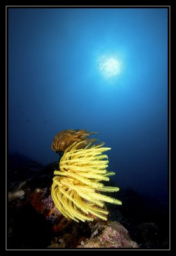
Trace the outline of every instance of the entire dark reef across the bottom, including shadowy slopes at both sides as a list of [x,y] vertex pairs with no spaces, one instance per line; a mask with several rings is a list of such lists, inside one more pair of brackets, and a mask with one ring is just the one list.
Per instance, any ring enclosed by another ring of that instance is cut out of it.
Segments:
[[106,204],[104,209],[110,212],[107,221],[94,218],[77,223],[65,218],[51,197],[55,166],[56,163],[49,164],[35,176],[31,172],[32,177],[19,180],[15,187],[14,182],[9,184],[8,188],[13,189],[10,195],[14,196],[8,202],[7,249],[169,248],[168,213],[162,210],[163,205],[159,207],[159,202],[151,204],[150,198],[150,204],[146,204],[147,198],[134,189],[121,189],[122,206]]

